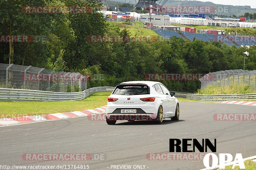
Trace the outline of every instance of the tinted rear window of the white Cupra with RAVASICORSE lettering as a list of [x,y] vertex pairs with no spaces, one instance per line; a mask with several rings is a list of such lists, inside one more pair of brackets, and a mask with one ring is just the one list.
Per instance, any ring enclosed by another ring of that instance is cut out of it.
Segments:
[[117,85],[113,94],[118,95],[139,95],[149,94],[149,87],[140,84]]

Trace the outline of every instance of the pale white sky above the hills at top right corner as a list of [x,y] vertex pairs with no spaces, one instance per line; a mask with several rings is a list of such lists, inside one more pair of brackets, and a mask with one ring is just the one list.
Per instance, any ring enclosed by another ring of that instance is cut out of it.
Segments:
[[256,0],[199,0],[202,2],[212,2],[214,4],[222,4],[222,5],[250,5],[251,8],[256,8]]

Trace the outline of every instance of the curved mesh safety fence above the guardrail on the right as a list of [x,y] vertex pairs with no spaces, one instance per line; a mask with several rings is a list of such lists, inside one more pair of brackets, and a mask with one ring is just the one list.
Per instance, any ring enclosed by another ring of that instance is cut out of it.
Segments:
[[256,70],[225,70],[217,71],[204,75],[199,79],[201,88],[207,85],[227,86],[230,84],[246,84],[256,88]]

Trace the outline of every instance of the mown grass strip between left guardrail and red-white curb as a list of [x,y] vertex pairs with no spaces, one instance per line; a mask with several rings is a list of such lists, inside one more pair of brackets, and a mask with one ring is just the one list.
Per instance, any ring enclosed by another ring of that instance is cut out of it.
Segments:
[[1,101],[0,118],[43,115],[105,106],[111,92],[97,92],[76,101]]

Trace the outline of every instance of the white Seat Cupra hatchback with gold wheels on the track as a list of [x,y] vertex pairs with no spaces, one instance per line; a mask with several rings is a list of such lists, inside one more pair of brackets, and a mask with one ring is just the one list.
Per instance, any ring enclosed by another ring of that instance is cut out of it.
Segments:
[[152,120],[162,123],[163,119],[179,120],[178,100],[162,83],[155,81],[129,81],[116,86],[108,97],[106,121]]

